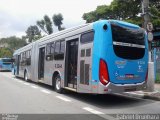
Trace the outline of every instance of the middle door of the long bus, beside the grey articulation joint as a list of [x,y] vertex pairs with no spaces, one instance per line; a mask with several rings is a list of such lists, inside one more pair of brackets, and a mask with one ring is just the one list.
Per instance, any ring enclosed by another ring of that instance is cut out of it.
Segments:
[[38,79],[44,79],[45,47],[39,49]]

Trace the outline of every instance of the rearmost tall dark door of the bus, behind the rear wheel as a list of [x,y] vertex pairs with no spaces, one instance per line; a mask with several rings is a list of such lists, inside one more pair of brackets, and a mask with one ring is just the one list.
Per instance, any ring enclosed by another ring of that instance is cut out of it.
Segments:
[[66,86],[77,88],[78,38],[66,43]]

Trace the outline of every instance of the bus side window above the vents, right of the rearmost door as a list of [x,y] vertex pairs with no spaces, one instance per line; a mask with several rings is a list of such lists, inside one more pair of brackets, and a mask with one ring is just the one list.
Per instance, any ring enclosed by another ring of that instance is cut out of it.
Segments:
[[81,35],[81,43],[89,43],[89,42],[92,42],[94,39],[94,32],[91,31],[91,32],[87,32],[87,33],[83,33]]

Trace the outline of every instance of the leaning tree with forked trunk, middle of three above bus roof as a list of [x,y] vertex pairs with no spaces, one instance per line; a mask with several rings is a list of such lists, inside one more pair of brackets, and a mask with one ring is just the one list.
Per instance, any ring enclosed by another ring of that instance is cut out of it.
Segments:
[[37,25],[47,34],[53,33],[52,28],[52,21],[48,17],[48,15],[45,15],[42,20],[37,21]]

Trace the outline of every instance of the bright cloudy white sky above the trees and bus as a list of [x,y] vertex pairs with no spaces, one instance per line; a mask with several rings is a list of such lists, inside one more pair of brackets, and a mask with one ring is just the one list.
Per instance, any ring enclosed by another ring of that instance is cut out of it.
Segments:
[[[45,14],[63,15],[65,28],[84,24],[83,13],[99,5],[109,5],[112,0],[0,0],[0,38],[25,35],[30,25],[36,25]],[[54,27],[54,31],[57,28]]]

